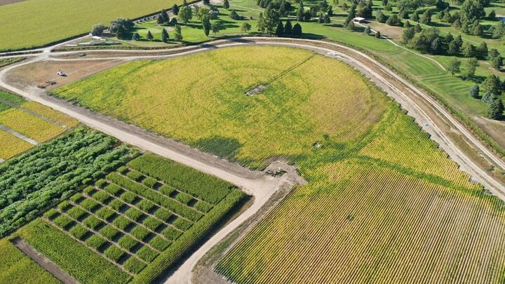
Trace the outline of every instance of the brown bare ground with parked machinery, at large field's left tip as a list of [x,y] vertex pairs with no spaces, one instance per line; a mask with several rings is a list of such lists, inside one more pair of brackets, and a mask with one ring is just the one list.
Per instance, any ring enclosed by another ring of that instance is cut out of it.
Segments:
[[[51,90],[67,83],[78,81],[87,76],[105,69],[119,65],[122,60],[90,60],[90,61],[36,61],[22,65],[6,74],[7,81],[13,86],[27,90],[27,88],[55,81],[54,85],[48,85]],[[67,76],[58,76],[62,70]]]

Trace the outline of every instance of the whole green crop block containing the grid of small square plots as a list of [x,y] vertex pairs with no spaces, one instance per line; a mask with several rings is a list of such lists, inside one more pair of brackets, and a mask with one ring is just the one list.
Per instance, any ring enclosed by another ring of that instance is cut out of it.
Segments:
[[81,283],[151,283],[244,196],[228,182],[144,154],[12,237]]

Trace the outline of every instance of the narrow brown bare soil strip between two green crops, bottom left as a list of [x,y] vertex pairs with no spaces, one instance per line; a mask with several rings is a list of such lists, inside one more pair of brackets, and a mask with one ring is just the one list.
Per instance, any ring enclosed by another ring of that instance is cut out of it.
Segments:
[[27,243],[22,238],[15,237],[11,240],[11,243],[13,243],[16,248],[24,252],[27,257],[39,264],[43,269],[46,269],[46,271],[58,278],[58,280],[62,281],[65,284],[79,284],[79,282],[69,273],[67,273],[67,271],[61,269],[60,266],[52,262],[45,255],[38,252],[34,247],[32,247],[32,245]]

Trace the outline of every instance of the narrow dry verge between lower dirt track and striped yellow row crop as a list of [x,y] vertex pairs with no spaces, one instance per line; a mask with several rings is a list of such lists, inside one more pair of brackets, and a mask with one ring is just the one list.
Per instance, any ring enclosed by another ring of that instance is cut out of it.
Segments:
[[[277,163],[277,162],[276,162]],[[269,165],[269,168],[276,168],[276,165]],[[295,170],[293,168],[282,168],[285,175],[289,175],[288,172]],[[300,182],[305,182],[304,180],[300,180]],[[220,276],[214,271],[215,265],[226,255],[226,253],[234,247],[238,241],[245,236],[253,227],[263,219],[272,209],[280,203],[285,196],[289,194],[292,189],[292,184],[283,184],[278,191],[274,195],[271,196],[269,201],[265,203],[260,210],[258,210],[255,215],[251,216],[247,219],[241,226],[238,226],[236,230],[234,230],[231,234],[229,234],[226,238],[223,238],[222,241],[217,243],[209,252],[206,253],[196,264],[192,271],[191,283],[194,284],[231,284],[229,280]]]

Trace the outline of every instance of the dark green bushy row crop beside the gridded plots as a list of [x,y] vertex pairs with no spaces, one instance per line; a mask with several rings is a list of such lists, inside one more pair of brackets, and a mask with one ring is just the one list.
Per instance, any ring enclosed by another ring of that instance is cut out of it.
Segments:
[[76,128],[0,164],[0,236],[137,153],[117,143],[94,130]]

